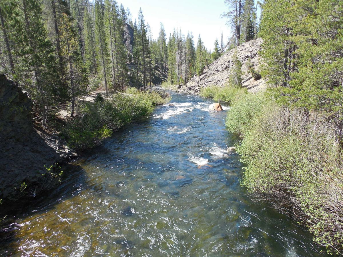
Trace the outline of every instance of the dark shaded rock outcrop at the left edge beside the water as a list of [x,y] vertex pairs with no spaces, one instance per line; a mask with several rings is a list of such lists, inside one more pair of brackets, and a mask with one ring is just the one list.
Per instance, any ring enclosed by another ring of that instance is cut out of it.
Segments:
[[15,197],[23,182],[31,190],[42,180],[44,165],[61,161],[61,154],[66,160],[68,153],[58,137],[34,126],[31,100],[0,74],[0,199]]

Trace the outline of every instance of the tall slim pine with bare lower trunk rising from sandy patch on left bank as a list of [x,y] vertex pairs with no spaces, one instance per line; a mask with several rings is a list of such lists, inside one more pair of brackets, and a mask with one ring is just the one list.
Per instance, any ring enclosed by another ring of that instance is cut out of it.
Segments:
[[99,73],[102,73],[105,83],[106,95],[108,94],[107,77],[109,70],[109,50],[105,34],[104,13],[102,2],[95,1],[95,38],[97,42],[97,56],[99,62]]

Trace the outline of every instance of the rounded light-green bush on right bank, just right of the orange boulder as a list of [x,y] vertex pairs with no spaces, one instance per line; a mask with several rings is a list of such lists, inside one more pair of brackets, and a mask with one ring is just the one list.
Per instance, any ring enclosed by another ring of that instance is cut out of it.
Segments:
[[236,96],[227,112],[225,125],[228,131],[243,137],[250,130],[253,118],[261,116],[265,104],[267,100],[262,93]]

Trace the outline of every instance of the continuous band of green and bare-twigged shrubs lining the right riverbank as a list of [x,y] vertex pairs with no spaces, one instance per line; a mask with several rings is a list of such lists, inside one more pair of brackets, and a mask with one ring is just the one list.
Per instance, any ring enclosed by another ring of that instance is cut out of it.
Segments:
[[226,127],[241,138],[237,152],[247,165],[241,184],[304,224],[316,243],[342,254],[342,150],[334,124],[245,88],[210,87],[201,95],[230,103]]

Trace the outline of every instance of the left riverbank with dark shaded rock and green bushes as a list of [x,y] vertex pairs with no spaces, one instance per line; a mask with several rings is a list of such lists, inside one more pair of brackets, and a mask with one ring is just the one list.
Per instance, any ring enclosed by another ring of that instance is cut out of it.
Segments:
[[128,89],[103,97],[87,95],[76,103],[74,117],[67,105],[45,126],[33,119],[32,100],[12,81],[0,77],[0,199],[6,205],[36,197],[56,186],[61,165],[98,145],[126,124],[148,117],[167,101],[162,91]]

